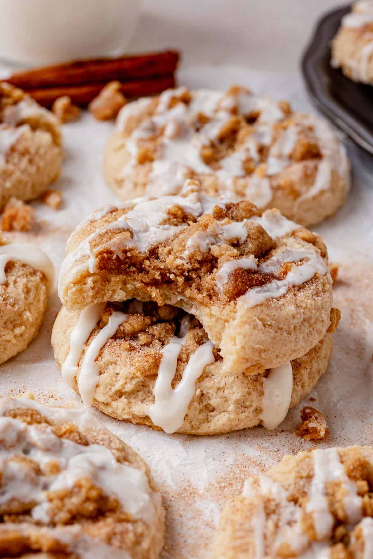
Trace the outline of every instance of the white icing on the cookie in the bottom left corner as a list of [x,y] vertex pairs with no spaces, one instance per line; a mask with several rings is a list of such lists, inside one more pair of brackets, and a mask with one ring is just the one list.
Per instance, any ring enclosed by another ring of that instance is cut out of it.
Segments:
[[[20,407],[17,404],[8,406],[5,402],[2,414],[14,406]],[[23,407],[35,407],[32,401],[23,400],[22,404]],[[45,408],[41,408],[41,413],[49,415]],[[65,417],[68,413],[64,410]],[[152,521],[154,498],[157,500],[159,496],[150,489],[147,476],[137,468],[117,462],[106,447],[98,444],[84,446],[57,437],[51,427],[39,428],[8,417],[0,418],[0,439],[1,505],[11,499],[35,501],[36,505],[31,509],[32,517],[48,523],[50,505],[45,491],[71,488],[78,479],[89,477],[106,495],[115,496],[122,510],[147,523]],[[15,454],[27,454],[40,465],[41,471],[46,463],[57,460],[60,471],[54,475],[39,476],[30,470],[26,473],[25,466],[10,461]]]

